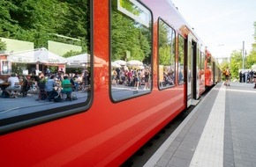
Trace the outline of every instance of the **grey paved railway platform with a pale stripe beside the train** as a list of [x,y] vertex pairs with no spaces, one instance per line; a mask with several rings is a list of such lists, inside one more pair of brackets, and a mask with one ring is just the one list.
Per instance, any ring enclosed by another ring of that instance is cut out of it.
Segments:
[[216,84],[145,167],[256,167],[254,84]]

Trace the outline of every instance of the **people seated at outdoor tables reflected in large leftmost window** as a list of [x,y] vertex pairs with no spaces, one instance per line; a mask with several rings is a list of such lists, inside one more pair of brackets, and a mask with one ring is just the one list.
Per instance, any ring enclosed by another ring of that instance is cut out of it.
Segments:
[[63,71],[56,73],[45,71],[38,75],[32,73],[27,76],[18,76],[15,73],[11,73],[11,76],[5,83],[8,86],[3,89],[4,98],[17,98],[15,93],[17,91],[23,97],[26,97],[27,91],[31,90],[39,93],[39,100],[52,101],[57,95],[63,100],[64,94],[72,100],[72,91],[87,91],[90,85],[90,73],[88,69],[84,69],[80,74],[65,74]]

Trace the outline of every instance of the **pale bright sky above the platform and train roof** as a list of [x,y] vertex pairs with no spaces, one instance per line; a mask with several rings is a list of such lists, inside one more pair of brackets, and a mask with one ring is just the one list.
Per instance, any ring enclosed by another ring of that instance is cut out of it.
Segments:
[[252,51],[256,0],[171,0],[214,57]]

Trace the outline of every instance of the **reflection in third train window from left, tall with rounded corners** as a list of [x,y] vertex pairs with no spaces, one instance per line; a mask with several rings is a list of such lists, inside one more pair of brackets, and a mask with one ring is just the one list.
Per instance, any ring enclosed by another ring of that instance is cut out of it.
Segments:
[[159,88],[164,89],[175,84],[175,31],[162,19],[158,20],[159,45]]

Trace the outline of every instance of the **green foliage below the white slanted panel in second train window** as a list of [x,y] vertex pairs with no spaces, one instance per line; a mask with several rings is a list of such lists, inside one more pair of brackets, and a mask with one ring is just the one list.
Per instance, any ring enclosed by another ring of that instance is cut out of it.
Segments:
[[111,20],[111,59],[113,61],[125,60],[126,51],[131,53],[133,60],[146,59],[151,53],[148,42],[150,40],[146,35],[148,31],[117,11],[112,12]]

